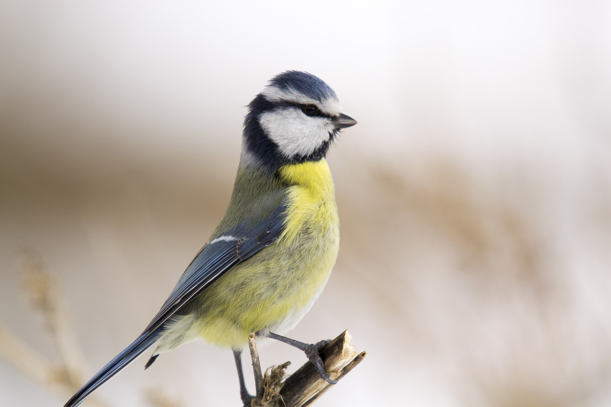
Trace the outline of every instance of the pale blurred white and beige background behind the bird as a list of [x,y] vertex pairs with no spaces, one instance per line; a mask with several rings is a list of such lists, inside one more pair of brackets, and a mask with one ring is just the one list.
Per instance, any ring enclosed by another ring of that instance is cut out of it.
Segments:
[[[130,344],[224,213],[244,105],[289,69],[359,121],[328,157],[337,265],[290,336],[348,328],[368,356],[316,406],[610,405],[610,1],[2,0],[6,328],[59,361],[28,248],[88,377]],[[229,350],[145,361],[98,398],[241,405]],[[65,401],[0,357],[1,406]]]

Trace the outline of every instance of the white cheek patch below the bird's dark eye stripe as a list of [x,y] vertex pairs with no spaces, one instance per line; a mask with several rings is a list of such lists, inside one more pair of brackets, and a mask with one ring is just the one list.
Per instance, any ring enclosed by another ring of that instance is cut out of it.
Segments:
[[333,131],[331,119],[306,117],[296,107],[262,113],[259,123],[287,158],[296,154],[309,156],[329,140],[329,132]]

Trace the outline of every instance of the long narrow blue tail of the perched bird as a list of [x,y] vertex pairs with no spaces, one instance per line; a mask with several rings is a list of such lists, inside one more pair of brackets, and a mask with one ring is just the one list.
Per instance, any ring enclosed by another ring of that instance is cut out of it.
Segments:
[[114,376],[119,370],[134,361],[142,352],[147,350],[163,333],[163,326],[153,331],[144,331],[138,339],[125,348],[119,355],[115,356],[106,366],[96,373],[81,389],[73,395],[64,407],[76,407],[95,389],[100,387],[106,380]]

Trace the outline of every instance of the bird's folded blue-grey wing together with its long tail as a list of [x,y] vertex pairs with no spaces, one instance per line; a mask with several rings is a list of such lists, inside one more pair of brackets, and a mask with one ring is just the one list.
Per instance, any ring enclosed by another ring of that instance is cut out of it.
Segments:
[[[148,324],[141,336],[104,366],[100,372],[96,373],[68,400],[64,407],[80,405],[91,392],[155,344],[155,341],[163,334],[164,322],[174,315],[178,309],[197,297],[233,266],[276,242],[284,231],[284,212],[285,206],[280,204],[276,211],[264,222],[255,226],[240,224],[202,247],[178,280],[170,297],[167,298],[161,310]],[[152,358],[147,367],[154,360]]]

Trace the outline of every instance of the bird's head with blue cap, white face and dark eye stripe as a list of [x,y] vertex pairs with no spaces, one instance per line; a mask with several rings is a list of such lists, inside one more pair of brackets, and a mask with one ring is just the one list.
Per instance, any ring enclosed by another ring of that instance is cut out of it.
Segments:
[[341,112],[335,92],[307,72],[286,71],[248,105],[242,160],[276,171],[323,158],[340,129],[356,121]]

